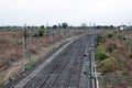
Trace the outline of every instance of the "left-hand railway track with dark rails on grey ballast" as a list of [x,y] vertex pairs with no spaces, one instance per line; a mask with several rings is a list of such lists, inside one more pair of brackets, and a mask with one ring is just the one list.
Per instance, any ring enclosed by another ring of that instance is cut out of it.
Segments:
[[[56,75],[54,75],[51,79],[47,78],[46,80],[43,80],[43,82],[37,87],[37,88],[53,88],[55,87],[54,84],[56,81],[58,81],[58,76],[61,75],[61,73],[65,69],[66,64],[68,64],[68,62],[70,61],[70,56],[73,53],[78,53],[78,46],[81,44],[81,42],[77,42],[74,47],[70,50],[70,52],[67,53],[67,55],[65,55],[64,57],[62,57],[64,61],[61,62],[62,67],[56,68],[53,72],[57,72]],[[77,47],[77,48],[76,48]],[[75,50],[76,48],[76,50]],[[76,52],[74,52],[76,51]],[[77,59],[75,61],[77,62]],[[48,76],[52,76],[53,73],[51,73]],[[47,81],[47,82],[46,82]],[[50,81],[50,82],[48,82]]]

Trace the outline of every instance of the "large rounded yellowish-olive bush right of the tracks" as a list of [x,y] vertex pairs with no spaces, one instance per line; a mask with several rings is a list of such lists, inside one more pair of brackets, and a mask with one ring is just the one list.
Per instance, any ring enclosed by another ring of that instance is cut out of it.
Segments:
[[116,58],[110,57],[110,58],[101,61],[98,64],[98,67],[99,67],[99,70],[105,74],[105,73],[114,72],[117,69],[117,65],[118,65],[118,63],[117,63]]

